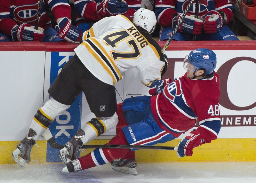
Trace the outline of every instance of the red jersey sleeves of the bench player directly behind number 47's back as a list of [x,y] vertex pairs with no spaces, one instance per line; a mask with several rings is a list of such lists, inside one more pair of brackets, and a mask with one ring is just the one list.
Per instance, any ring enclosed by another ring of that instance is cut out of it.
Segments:
[[[103,1],[103,0],[102,0]],[[99,1],[93,0],[74,0],[74,6],[76,8],[77,13],[86,21],[98,21],[103,17],[97,12],[96,6]],[[128,16],[130,19],[133,18],[133,14],[141,7],[141,0],[126,0],[126,4],[128,4],[128,11],[123,15]],[[116,14],[114,14],[116,15]],[[78,18],[79,19],[79,18]]]

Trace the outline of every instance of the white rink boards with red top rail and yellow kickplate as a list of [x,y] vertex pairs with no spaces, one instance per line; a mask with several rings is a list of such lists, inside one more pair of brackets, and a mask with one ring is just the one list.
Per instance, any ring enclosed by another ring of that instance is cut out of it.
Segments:
[[[165,42],[159,42],[164,46]],[[77,44],[0,42],[1,53],[1,126],[0,164],[14,163],[11,152],[27,133],[33,116],[49,99],[47,90],[60,72],[61,67],[73,55]],[[183,58],[196,48],[212,49],[217,55],[215,71],[220,75],[220,114],[222,128],[219,139],[197,147],[192,157],[178,158],[167,150],[139,150],[137,161],[255,161],[256,143],[256,41],[172,42],[165,54],[168,56],[168,71],[164,78],[182,76]],[[132,86],[132,87],[131,87]],[[132,94],[146,94],[148,88],[140,83],[136,69],[124,74],[116,84],[117,101]],[[82,107],[83,103],[83,107]],[[71,109],[58,117],[51,125],[51,133],[58,143],[64,144],[77,129],[90,120],[85,97],[80,96]],[[198,124],[196,124],[198,126]],[[104,139],[90,144],[104,144],[115,134],[108,131]],[[180,139],[164,146],[177,146]],[[42,137],[44,139],[44,137]],[[58,149],[52,149],[45,140],[37,142],[32,149],[33,162],[59,162]],[[88,153],[90,150],[86,150]],[[83,155],[83,154],[81,154]]]

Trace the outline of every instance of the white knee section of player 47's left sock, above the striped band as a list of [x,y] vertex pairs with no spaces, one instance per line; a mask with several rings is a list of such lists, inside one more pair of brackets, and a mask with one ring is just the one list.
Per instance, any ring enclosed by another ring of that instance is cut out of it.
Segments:
[[54,120],[58,115],[61,115],[69,107],[70,105],[62,104],[51,97],[40,109],[44,115],[47,116],[47,118],[49,117],[50,119]]

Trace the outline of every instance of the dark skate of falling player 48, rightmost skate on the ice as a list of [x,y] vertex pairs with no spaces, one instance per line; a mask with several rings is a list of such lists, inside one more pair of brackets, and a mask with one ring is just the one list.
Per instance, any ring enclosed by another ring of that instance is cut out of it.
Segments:
[[135,159],[116,159],[111,162],[112,169],[132,175],[137,175],[136,171],[136,160]]

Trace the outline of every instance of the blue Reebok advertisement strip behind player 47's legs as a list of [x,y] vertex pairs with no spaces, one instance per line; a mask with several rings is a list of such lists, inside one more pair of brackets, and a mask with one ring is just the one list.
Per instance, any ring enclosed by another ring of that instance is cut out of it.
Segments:
[[[61,71],[61,68],[74,55],[74,52],[51,52],[50,85]],[[82,93],[78,95],[72,105],[52,122],[49,129],[58,144],[64,145],[76,135],[81,128]],[[47,143],[46,162],[61,162],[59,150]]]

